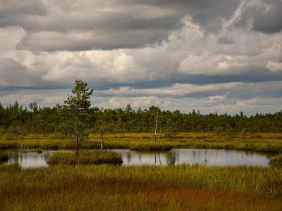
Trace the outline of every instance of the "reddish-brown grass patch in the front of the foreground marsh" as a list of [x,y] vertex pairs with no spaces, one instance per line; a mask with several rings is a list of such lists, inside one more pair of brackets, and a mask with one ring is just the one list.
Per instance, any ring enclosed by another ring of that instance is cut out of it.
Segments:
[[[240,191],[147,186],[130,181],[66,182],[49,188],[6,184],[1,210],[281,210],[278,199]],[[5,198],[5,200],[4,200]],[[16,203],[14,203],[16,202]]]

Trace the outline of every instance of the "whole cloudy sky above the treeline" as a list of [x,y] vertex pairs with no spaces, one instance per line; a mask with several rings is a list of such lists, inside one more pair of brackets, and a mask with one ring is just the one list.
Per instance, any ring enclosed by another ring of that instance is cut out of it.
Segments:
[[0,0],[0,103],[282,110],[282,0]]

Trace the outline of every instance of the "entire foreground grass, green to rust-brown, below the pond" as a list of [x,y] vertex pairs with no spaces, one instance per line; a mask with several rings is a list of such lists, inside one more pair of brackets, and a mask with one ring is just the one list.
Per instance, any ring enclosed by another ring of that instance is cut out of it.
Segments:
[[282,210],[278,168],[0,165],[0,210]]

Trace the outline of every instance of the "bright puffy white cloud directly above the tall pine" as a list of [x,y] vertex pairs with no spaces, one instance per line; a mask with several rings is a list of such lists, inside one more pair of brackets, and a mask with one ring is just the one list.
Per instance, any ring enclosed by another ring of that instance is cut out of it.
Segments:
[[145,68],[126,53],[88,51],[67,54],[60,63],[54,63],[42,79],[73,82],[80,78],[87,82],[133,83],[147,78]]

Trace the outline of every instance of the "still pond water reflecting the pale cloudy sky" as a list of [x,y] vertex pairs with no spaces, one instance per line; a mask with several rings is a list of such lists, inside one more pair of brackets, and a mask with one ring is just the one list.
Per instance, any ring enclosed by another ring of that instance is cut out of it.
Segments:
[[[226,151],[226,150],[204,150],[204,149],[171,149],[170,151],[130,151],[111,150],[120,153],[123,165],[177,165],[181,163],[204,165],[259,165],[269,166],[269,160],[274,154],[255,153],[249,151]],[[6,163],[18,162],[20,166],[47,167],[50,155],[58,151],[21,152],[8,151],[9,160]]]

